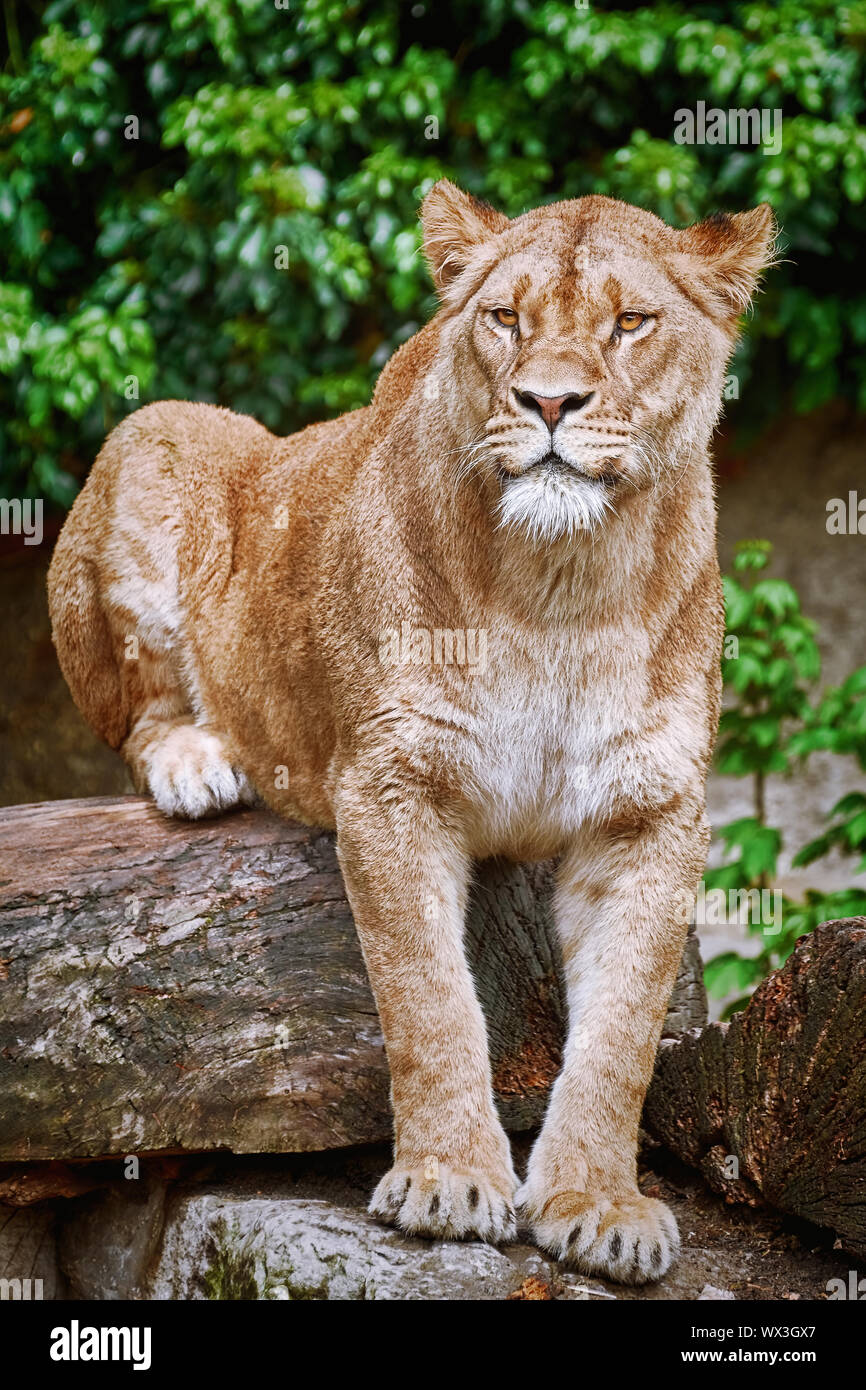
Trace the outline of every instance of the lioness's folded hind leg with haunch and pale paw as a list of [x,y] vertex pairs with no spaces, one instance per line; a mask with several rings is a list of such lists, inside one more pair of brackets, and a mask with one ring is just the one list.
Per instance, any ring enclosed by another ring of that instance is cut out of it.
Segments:
[[53,635],[72,696],[168,816],[256,799],[200,696],[179,570],[185,498],[210,456],[229,443],[261,452],[268,439],[211,406],[143,406],[106,439],[51,560]]

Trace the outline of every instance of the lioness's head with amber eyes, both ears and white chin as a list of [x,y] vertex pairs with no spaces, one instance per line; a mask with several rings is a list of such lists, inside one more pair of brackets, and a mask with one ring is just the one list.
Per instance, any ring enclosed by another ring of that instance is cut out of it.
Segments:
[[555,539],[673,485],[717,417],[769,208],[677,232],[588,197],[512,222],[439,183],[423,215],[452,455],[499,518]]

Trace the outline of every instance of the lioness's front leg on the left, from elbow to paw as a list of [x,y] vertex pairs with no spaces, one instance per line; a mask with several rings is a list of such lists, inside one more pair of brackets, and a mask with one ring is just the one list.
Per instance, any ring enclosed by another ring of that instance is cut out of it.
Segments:
[[336,805],[391,1069],[393,1166],[370,1211],[413,1234],[507,1240],[517,1183],[463,949],[467,856],[399,776],[346,774]]

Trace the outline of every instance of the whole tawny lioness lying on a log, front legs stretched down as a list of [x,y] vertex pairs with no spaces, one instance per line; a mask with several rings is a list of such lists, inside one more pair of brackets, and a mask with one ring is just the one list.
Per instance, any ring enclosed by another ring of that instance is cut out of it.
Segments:
[[[708,847],[708,446],[773,217],[509,220],[443,179],[421,220],[441,309],[370,406],[289,439],[185,402],[113,431],[54,641],[167,815],[259,794],[336,828],[392,1077],[371,1212],[503,1241],[517,1202],[559,1259],[639,1283],[678,1244],[637,1138]],[[517,1191],[461,942],[488,855],[559,858],[570,1033]]]

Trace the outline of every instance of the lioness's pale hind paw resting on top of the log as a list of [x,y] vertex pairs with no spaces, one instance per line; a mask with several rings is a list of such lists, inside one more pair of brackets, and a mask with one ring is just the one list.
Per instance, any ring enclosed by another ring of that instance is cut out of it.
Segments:
[[222,739],[195,724],[172,728],[147,752],[147,785],[167,816],[199,820],[252,806],[256,792],[228,760]]

